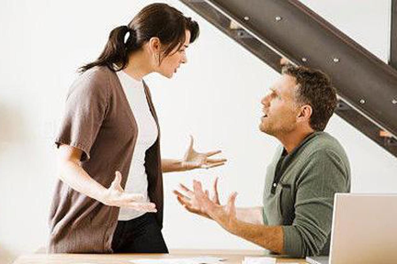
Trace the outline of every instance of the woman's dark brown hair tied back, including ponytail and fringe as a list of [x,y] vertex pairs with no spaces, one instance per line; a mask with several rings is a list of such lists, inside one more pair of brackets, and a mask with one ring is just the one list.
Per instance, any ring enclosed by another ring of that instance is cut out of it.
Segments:
[[[143,8],[128,24],[116,27],[110,32],[108,43],[98,59],[79,68],[84,72],[95,66],[107,66],[112,71],[124,69],[131,52],[139,50],[152,37],[159,38],[165,46],[164,57],[175,47],[185,42],[185,31],[191,33],[190,43],[198,36],[199,28],[196,21],[185,17],[181,11],[167,4],[150,4]],[[127,40],[125,36],[129,33]],[[161,63],[161,56],[159,63]],[[116,67],[115,67],[116,66]]]

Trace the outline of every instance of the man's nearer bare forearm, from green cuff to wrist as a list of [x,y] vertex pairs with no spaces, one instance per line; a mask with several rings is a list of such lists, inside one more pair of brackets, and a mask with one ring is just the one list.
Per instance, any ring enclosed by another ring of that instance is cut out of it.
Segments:
[[283,253],[284,233],[281,226],[266,226],[235,220],[227,230],[260,247],[275,253]]

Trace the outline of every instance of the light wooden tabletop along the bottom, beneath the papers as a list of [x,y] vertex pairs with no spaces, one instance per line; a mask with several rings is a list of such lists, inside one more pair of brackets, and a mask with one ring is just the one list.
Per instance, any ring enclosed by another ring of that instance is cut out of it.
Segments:
[[[130,260],[141,258],[190,258],[195,256],[217,256],[227,258],[224,264],[241,264],[245,256],[269,256],[263,251],[241,250],[192,250],[175,249],[170,254],[28,254],[19,256],[13,264],[132,264]],[[295,262],[306,264],[304,259],[278,256],[277,263]]]

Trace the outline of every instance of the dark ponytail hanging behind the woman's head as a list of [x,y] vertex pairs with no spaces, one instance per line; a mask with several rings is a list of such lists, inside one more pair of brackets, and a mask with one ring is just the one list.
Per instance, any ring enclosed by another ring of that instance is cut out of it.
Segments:
[[[129,36],[124,42],[127,33]],[[82,66],[79,71],[85,72],[95,66],[107,66],[112,71],[124,69],[130,52],[135,48],[135,40],[136,34],[133,29],[127,26],[116,27],[110,32],[108,42],[98,59]]]

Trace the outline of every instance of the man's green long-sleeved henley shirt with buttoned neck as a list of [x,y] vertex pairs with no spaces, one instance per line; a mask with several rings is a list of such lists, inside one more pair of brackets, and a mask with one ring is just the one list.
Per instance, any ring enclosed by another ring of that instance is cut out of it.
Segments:
[[266,172],[263,218],[283,227],[286,254],[329,254],[333,197],[350,192],[350,182],[346,153],[326,132],[310,134],[289,154],[278,148]]

